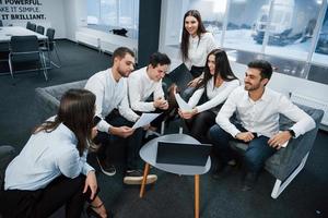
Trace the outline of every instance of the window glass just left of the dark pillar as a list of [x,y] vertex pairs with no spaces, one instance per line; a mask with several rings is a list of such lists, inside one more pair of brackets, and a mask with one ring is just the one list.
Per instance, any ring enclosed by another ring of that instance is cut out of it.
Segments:
[[87,0],[87,26],[138,38],[139,0]]

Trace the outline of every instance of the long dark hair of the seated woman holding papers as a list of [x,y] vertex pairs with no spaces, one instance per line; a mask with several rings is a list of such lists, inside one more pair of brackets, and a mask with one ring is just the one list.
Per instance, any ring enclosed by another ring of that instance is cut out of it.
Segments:
[[233,81],[238,80],[233,71],[231,70],[229,59],[226,56],[226,52],[222,49],[213,49],[211,52],[209,52],[207,57],[207,61],[209,60],[209,57],[213,55],[215,57],[215,72],[214,75],[211,75],[210,69],[208,63],[204,65],[203,70],[203,80],[198,84],[198,87],[203,87],[208,84],[208,82],[211,80],[212,76],[214,76],[214,84],[216,81],[218,75],[222,77],[223,81]]

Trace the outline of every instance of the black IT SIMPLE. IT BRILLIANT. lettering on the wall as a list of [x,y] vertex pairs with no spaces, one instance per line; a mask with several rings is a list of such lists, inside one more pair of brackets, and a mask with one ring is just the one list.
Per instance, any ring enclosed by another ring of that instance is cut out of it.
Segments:
[[0,20],[5,23],[45,21],[40,0],[0,0]]

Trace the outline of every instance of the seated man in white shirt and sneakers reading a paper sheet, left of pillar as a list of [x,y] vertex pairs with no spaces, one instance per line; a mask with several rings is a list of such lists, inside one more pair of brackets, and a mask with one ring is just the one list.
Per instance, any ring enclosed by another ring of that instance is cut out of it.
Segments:
[[[127,81],[134,69],[134,53],[126,47],[117,48],[113,53],[113,66],[101,71],[89,78],[85,88],[96,96],[95,114],[98,134],[94,143],[98,145],[113,144],[121,141],[126,146],[126,184],[140,184],[142,171],[138,170],[139,149],[142,142],[142,129],[133,130],[133,122],[139,119],[130,108],[127,99]],[[97,160],[102,171],[114,175],[116,169],[110,165],[107,146],[101,146]],[[149,175],[148,183],[156,181],[156,175]]]

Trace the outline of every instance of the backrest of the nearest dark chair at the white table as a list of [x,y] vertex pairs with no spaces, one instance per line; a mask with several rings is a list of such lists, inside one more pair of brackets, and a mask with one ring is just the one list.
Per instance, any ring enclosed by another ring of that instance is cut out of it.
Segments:
[[12,61],[39,60],[38,40],[36,36],[12,36],[10,39],[10,53]]

